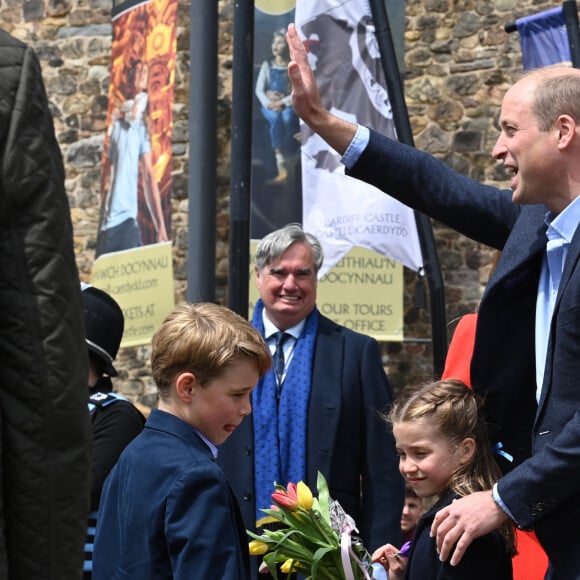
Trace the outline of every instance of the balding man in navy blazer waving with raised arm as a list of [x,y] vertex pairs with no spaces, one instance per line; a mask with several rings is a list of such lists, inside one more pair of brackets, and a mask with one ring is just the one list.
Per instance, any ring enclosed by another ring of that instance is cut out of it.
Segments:
[[332,115],[293,25],[288,41],[294,109],[341,155],[349,149],[349,175],[501,250],[479,307],[470,374],[504,475],[437,514],[441,558],[459,564],[476,538],[511,519],[535,531],[546,578],[579,577],[580,71],[537,69],[506,92],[492,151],[511,174],[510,189],[500,190]]

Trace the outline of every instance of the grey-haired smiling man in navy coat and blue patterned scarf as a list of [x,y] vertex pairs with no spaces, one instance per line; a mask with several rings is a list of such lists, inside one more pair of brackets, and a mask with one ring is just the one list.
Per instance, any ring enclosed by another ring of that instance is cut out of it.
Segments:
[[[377,341],[318,311],[322,263],[319,240],[300,224],[271,232],[258,244],[260,299],[252,324],[275,364],[252,395],[251,418],[218,461],[247,529],[270,525],[261,509],[270,507],[274,482],[304,481],[314,489],[320,471],[330,495],[374,549],[401,539],[404,484],[392,434],[380,417],[391,389]],[[276,348],[278,339],[283,341]],[[255,572],[256,558],[252,565]]]

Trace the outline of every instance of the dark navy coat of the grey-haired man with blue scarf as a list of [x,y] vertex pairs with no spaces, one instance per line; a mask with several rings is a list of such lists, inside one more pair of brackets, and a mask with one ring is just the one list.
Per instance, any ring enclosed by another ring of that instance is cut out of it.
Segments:
[[[377,341],[319,315],[305,483],[315,492],[318,471],[324,474],[331,497],[354,518],[368,550],[401,540],[404,483],[392,433],[380,417],[390,403]],[[248,529],[256,522],[253,435],[250,415],[218,454]]]

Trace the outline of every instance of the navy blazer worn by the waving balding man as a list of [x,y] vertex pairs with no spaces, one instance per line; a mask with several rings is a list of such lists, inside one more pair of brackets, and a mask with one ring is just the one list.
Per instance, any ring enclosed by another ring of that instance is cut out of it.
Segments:
[[518,206],[412,147],[371,131],[348,172],[469,238],[502,250],[482,297],[471,362],[493,443],[515,456],[498,489],[533,528],[553,579],[580,578],[580,231],[568,250],[536,404],[535,309],[547,209]]

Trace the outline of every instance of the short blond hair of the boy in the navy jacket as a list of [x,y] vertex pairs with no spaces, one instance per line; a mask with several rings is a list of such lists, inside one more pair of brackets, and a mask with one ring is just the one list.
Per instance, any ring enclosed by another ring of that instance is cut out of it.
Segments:
[[210,302],[177,306],[153,336],[151,372],[164,400],[176,375],[193,373],[205,385],[241,361],[253,362],[261,377],[272,358],[247,320]]

